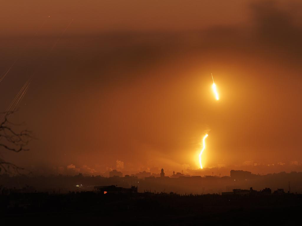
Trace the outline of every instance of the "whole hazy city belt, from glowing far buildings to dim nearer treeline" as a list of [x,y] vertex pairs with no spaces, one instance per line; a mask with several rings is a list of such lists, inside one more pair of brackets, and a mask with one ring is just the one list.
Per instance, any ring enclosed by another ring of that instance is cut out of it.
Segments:
[[188,164],[183,164],[179,171],[159,167],[127,170],[124,165],[126,164],[123,161],[117,160],[111,167],[98,164],[93,168],[87,165],[77,167],[70,164],[42,170],[32,166],[32,171],[27,175],[7,175],[4,184],[7,189],[20,190],[29,186],[31,190],[54,193],[59,190],[61,193],[92,191],[95,186],[110,185],[124,188],[136,186],[138,192],[148,190],[153,193],[157,191],[221,195],[233,189],[245,190],[250,187],[256,190],[268,187],[273,191],[283,189],[285,192],[302,193],[302,165],[297,161],[288,164],[245,161],[241,166],[220,163],[217,167],[202,170],[191,169]]

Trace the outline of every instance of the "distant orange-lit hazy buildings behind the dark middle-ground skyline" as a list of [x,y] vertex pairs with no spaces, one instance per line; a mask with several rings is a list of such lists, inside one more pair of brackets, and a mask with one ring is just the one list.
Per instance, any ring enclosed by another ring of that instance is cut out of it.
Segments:
[[[77,175],[81,173],[83,176],[103,176],[112,177],[112,171],[115,170],[115,176],[122,177],[123,175],[131,175],[137,177],[160,177],[160,170],[162,167],[141,167],[135,168],[131,163],[125,163],[121,160],[116,160],[112,165],[108,164],[95,164],[95,165],[67,165],[67,166],[49,166],[49,167],[36,167],[31,165],[30,173],[34,175]],[[230,176],[230,170],[245,170],[251,171],[253,174],[271,174],[278,172],[302,171],[302,165],[299,161],[289,162],[275,162],[263,163],[253,162],[251,160],[244,161],[240,165],[228,165],[227,163],[220,162],[216,166],[206,167],[202,170],[197,167],[191,167],[189,164],[182,164],[178,168],[165,168],[165,174],[169,177],[175,177],[178,174],[182,176]],[[110,173],[111,172],[111,173]],[[142,173],[145,174],[142,174]],[[174,172],[174,176],[173,176]],[[111,176],[110,176],[111,175]],[[141,176],[140,176],[141,175]],[[141,179],[140,178],[140,179]]]

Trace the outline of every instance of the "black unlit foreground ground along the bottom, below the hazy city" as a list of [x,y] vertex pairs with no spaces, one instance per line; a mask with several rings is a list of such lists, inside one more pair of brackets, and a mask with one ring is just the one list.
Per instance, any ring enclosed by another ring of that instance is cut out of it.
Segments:
[[[2,222],[84,225],[301,225],[302,195],[178,196],[47,194],[0,196]],[[5,225],[5,224],[3,224]]]

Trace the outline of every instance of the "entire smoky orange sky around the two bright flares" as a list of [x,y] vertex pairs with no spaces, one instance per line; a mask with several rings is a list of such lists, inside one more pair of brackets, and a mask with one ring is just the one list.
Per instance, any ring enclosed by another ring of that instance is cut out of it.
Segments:
[[38,71],[14,120],[26,121],[39,139],[30,152],[8,158],[20,164],[121,159],[137,167],[195,166],[208,132],[205,167],[301,161],[300,6],[3,2],[0,70],[29,43],[0,83],[3,110]]

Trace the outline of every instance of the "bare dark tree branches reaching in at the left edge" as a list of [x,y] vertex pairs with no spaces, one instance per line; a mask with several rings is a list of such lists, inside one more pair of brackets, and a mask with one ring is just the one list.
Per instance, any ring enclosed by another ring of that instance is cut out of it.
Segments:
[[[29,141],[33,139],[33,134],[29,130],[18,131],[17,128],[18,126],[21,126],[21,124],[14,124],[8,121],[8,118],[13,113],[14,111],[2,113],[4,116],[1,117],[0,123],[0,151],[28,151],[29,149],[27,149],[26,146]],[[2,155],[0,155],[0,172],[4,171],[5,173],[11,173],[11,171],[15,171],[19,173],[19,170],[21,169],[23,168],[5,161]]]

